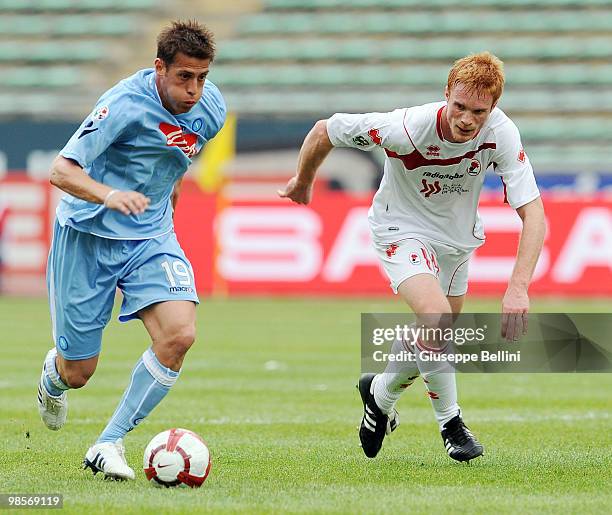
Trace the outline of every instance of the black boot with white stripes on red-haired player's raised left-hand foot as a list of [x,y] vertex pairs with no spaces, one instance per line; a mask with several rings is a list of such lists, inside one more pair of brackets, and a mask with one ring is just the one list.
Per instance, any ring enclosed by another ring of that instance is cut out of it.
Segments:
[[385,435],[391,434],[399,426],[399,414],[394,409],[391,415],[384,414],[376,405],[372,392],[372,381],[376,374],[362,374],[357,389],[363,401],[363,418],[359,426],[361,448],[368,458],[374,458]]

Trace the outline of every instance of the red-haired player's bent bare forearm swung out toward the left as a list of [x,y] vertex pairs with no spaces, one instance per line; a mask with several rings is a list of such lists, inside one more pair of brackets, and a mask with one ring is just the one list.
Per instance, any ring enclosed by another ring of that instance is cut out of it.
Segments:
[[315,175],[332,148],[334,146],[327,134],[327,120],[319,120],[302,143],[296,175],[289,179],[284,190],[278,190],[278,195],[298,204],[310,203]]

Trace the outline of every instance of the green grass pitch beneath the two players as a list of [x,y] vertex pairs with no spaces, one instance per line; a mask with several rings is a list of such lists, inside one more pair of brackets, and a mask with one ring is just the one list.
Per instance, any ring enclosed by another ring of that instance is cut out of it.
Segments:
[[[498,301],[466,310],[497,310]],[[610,301],[534,302],[537,311],[604,311]],[[98,371],[48,431],[36,385],[49,348],[44,300],[0,299],[0,493],[62,493],[64,513],[610,513],[612,375],[459,375],[466,423],[485,446],[447,457],[421,381],[378,458],[359,448],[361,312],[396,299],[204,300],[198,341],[176,386],[126,438],[137,480],[103,481],[80,464],[147,346],[138,322],[112,322]],[[213,456],[199,490],[157,489],[142,473],[149,439],[201,434]]]

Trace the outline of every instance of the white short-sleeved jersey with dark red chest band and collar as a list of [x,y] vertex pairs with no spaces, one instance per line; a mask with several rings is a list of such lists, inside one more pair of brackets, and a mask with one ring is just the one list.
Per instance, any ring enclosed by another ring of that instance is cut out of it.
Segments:
[[514,209],[540,195],[510,118],[495,108],[472,140],[451,143],[442,136],[445,106],[436,102],[389,113],[337,113],[327,121],[334,146],[380,146],[387,154],[368,216],[376,242],[422,236],[464,251],[482,245],[478,199],[490,165]]

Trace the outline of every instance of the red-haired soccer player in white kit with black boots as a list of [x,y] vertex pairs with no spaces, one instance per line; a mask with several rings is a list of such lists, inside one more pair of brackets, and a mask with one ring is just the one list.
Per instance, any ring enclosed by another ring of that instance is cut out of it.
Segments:
[[[502,62],[483,52],[456,61],[444,102],[389,113],[337,113],[318,121],[300,150],[297,174],[279,195],[308,204],[315,174],[333,147],[386,153],[384,176],[369,211],[376,252],[391,282],[427,326],[442,327],[458,314],[467,292],[468,265],[484,243],[478,199],[485,170],[504,184],[505,201],[522,220],[516,262],[502,301],[502,335],[526,330],[527,290],[540,254],[545,218],[533,169],[515,124],[496,107],[504,86]],[[395,404],[421,375],[449,456],[469,461],[483,453],[465,426],[454,372],[422,352],[444,351],[443,342],[396,341],[392,352],[415,353],[415,362],[390,363],[381,374],[363,374],[364,414],[359,437],[373,458],[398,423]]]

